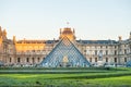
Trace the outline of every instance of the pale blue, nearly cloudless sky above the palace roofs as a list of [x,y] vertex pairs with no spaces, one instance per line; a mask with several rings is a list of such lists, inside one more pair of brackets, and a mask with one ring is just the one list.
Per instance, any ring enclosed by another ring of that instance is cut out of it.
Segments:
[[11,39],[58,39],[67,26],[78,39],[128,39],[131,0],[0,0],[0,26]]

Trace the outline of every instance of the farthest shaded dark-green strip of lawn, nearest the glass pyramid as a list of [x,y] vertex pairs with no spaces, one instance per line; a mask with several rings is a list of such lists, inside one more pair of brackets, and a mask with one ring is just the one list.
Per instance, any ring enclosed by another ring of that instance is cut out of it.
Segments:
[[119,71],[129,71],[128,69],[117,67],[58,67],[58,69],[26,69],[26,67],[13,67],[13,69],[0,69],[0,74],[82,74],[82,73],[114,73]]

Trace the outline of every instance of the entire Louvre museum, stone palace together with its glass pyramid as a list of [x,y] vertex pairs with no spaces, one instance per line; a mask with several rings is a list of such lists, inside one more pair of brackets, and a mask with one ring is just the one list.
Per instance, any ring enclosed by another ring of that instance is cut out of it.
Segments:
[[76,40],[75,30],[60,28],[57,40],[8,39],[0,27],[0,64],[8,66],[126,65],[131,61],[131,33],[126,40]]

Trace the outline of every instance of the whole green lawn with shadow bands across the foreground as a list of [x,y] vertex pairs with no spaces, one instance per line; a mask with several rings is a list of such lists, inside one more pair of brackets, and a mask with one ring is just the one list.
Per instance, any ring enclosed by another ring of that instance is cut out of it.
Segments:
[[26,72],[25,69],[0,70],[0,86],[131,87],[131,69],[31,69],[29,74]]

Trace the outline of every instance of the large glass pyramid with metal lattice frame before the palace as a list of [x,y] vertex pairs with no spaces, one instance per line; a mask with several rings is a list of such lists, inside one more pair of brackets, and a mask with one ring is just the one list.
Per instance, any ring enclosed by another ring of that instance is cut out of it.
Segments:
[[[64,62],[63,58],[66,58],[68,62]],[[69,38],[63,37],[41,61],[40,65],[45,67],[88,67],[91,64]]]

